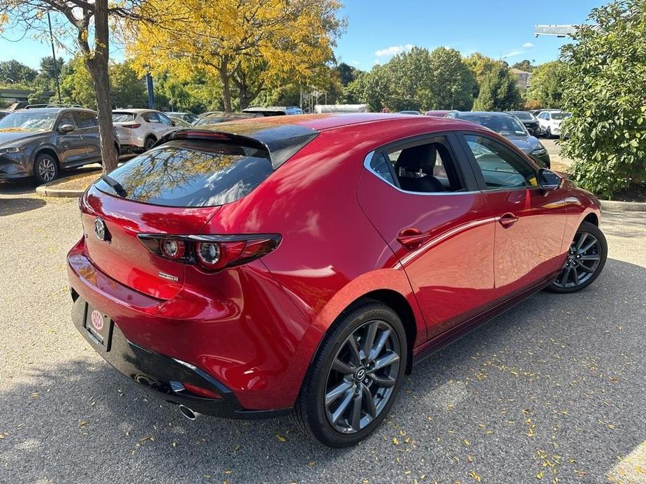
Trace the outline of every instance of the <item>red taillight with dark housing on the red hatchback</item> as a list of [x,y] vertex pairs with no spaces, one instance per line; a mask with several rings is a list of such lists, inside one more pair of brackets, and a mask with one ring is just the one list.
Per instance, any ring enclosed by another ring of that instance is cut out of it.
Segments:
[[198,264],[207,271],[247,264],[278,247],[278,234],[158,235],[139,234],[151,252],[164,259]]

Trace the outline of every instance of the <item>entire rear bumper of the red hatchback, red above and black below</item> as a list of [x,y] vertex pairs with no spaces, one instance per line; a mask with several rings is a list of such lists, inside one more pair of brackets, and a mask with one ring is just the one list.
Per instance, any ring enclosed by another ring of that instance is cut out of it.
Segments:
[[[147,375],[166,400],[182,403],[186,397],[182,392],[168,393],[170,381],[177,377],[172,362],[179,361],[220,388],[214,391],[228,395],[224,402],[184,402],[194,411],[234,418],[282,414],[293,407],[324,333],[304,320],[271,275],[261,271],[262,264],[253,264],[212,275],[208,287],[184,287],[163,300],[103,273],[85,255],[81,239],[68,254],[70,287],[79,299],[112,319],[122,351],[110,354],[110,348],[102,353],[103,347],[85,334],[82,315],[75,315],[74,324],[117,370],[131,379]],[[142,363],[149,360],[163,372]],[[198,407],[201,404],[208,408]]]

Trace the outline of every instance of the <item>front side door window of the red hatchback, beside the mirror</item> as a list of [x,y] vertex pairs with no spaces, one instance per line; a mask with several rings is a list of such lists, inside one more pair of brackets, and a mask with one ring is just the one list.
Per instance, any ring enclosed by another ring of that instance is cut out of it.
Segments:
[[493,139],[464,135],[487,190],[536,186],[536,173],[522,158]]

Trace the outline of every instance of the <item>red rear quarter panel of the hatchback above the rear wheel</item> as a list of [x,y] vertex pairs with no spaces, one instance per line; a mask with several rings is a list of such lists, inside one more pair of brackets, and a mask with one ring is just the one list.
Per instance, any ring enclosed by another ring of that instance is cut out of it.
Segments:
[[382,144],[381,129],[323,130],[251,194],[223,206],[204,232],[281,234],[279,248],[260,260],[321,331],[368,292],[402,294],[420,344],[426,330],[411,285],[357,201],[363,158]]

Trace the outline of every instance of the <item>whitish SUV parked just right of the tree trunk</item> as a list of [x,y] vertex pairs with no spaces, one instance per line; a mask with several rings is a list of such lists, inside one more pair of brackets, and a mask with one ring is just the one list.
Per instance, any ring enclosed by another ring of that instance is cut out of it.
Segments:
[[166,114],[154,109],[115,109],[112,124],[122,154],[148,151],[157,139],[177,129]]

